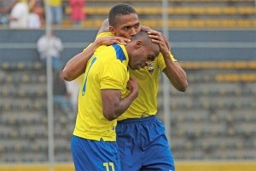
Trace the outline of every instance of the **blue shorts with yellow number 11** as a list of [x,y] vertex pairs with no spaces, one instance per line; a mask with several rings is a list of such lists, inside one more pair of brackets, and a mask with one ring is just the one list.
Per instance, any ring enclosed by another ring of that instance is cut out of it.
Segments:
[[71,151],[76,171],[120,171],[116,142],[86,140],[72,137]]

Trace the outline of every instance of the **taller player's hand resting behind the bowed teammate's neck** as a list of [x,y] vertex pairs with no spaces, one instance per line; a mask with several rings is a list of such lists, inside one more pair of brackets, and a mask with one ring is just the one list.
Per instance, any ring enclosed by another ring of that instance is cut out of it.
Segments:
[[96,39],[96,44],[101,45],[112,45],[112,44],[126,44],[131,40],[125,37],[116,37],[116,36],[108,36],[108,37],[99,37]]

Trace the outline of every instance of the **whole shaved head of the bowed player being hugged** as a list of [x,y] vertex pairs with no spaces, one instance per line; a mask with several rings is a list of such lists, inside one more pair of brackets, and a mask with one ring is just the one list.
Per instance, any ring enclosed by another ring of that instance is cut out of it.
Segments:
[[128,65],[131,70],[149,66],[150,62],[154,61],[160,53],[159,45],[151,41],[146,31],[140,31],[131,37],[131,42],[127,43],[125,48],[129,56]]

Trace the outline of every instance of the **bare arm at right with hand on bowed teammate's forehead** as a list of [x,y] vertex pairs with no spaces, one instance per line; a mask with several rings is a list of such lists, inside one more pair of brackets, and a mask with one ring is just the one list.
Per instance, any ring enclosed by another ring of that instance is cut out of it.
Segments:
[[152,38],[152,41],[158,43],[160,46],[160,53],[163,55],[166,63],[166,68],[164,69],[166,77],[168,77],[172,85],[178,91],[184,92],[188,87],[187,75],[177,62],[172,61],[169,52],[169,44],[167,43],[166,38],[158,31],[150,30],[148,31],[148,34],[149,37]]

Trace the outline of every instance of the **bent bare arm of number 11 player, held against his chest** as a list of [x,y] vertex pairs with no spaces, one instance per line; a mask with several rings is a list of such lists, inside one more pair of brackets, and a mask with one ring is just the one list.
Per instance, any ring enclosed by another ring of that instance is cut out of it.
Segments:
[[102,111],[108,121],[112,121],[122,115],[131,105],[132,101],[137,98],[138,84],[135,79],[130,78],[128,88],[131,92],[123,99],[121,99],[119,90],[102,90]]

